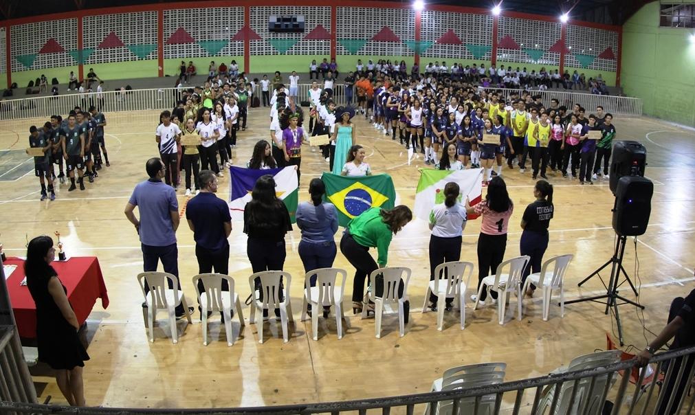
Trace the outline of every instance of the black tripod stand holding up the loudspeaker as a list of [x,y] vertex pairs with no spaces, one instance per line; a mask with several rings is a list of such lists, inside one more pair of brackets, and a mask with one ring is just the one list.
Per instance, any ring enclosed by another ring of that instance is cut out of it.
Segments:
[[[623,268],[623,254],[625,253],[627,238],[627,236],[618,236],[618,240],[615,243],[613,257],[611,257],[611,259],[604,263],[603,266],[598,268],[598,270],[591,272],[591,275],[589,275],[589,277],[582,279],[582,281],[579,284],[577,284],[578,286],[582,286],[584,282],[589,281],[589,279],[594,277],[594,275],[598,275],[600,279],[599,272],[607,268],[607,266],[611,266],[610,279],[608,280],[608,285],[606,285],[605,282],[603,282],[603,279],[601,279],[601,283],[606,288],[606,293],[603,295],[595,295],[594,297],[579,298],[578,300],[571,300],[565,302],[565,304],[573,304],[575,302],[594,301],[599,302],[600,304],[605,304],[605,314],[608,314],[608,311],[612,310],[615,315],[616,325],[618,326],[618,337],[620,340],[620,345],[623,345],[623,327],[620,323],[618,306],[623,304],[632,304],[635,307],[644,309],[643,305],[632,300],[628,300],[627,298],[624,298],[618,294],[618,288],[625,282],[628,282],[628,284],[630,284],[630,288],[632,288],[632,291],[635,293],[635,295],[638,295],[637,289],[635,289],[635,286],[632,284],[632,281],[630,281],[630,277],[628,277],[628,273],[626,272],[625,268]],[[623,282],[619,282],[621,275],[625,277],[625,280]],[[622,302],[618,302],[619,300]]]

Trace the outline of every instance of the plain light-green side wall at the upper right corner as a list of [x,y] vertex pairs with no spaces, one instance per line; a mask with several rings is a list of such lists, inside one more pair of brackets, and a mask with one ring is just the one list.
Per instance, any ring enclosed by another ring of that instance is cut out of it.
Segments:
[[659,27],[659,2],[623,25],[621,86],[642,99],[644,113],[695,126],[695,43],[692,30]]

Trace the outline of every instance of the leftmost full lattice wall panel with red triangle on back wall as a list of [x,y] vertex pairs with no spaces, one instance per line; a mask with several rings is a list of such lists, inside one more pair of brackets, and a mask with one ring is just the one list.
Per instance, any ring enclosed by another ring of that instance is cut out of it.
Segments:
[[[12,39],[10,44],[12,72],[77,64],[68,53],[77,49],[77,19],[18,24],[10,27],[10,38]],[[50,40],[54,40],[58,46],[53,46],[55,43],[49,42]],[[40,53],[47,42],[49,42],[49,49],[63,49],[63,51]],[[24,60],[24,63],[20,59]],[[31,65],[25,65],[25,63],[31,63]]]

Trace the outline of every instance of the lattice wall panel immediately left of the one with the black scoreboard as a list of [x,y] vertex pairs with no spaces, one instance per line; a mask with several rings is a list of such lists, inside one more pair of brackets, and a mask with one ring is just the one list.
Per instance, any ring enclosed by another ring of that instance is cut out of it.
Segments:
[[[244,54],[244,42],[231,41],[244,26],[243,7],[164,10],[163,19],[165,59]],[[190,39],[186,40],[186,34]],[[167,44],[172,35],[177,40]],[[227,44],[224,40],[228,41]],[[218,47],[221,47],[219,51]]]

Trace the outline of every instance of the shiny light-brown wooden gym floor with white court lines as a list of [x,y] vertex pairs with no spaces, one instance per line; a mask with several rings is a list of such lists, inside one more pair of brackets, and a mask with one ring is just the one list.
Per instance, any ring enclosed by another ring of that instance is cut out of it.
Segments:
[[[234,162],[245,165],[256,140],[268,137],[267,109],[251,112],[249,129],[239,133]],[[220,332],[218,318],[211,323],[212,343],[202,345],[202,326],[195,315],[193,325],[178,325],[181,340],[173,345],[169,324],[160,320],[156,341],[149,343],[143,327],[142,302],[136,275],[142,271],[140,243],[133,227],[123,215],[123,208],[133,186],[146,178],[145,160],[156,156],[154,129],[158,111],[107,113],[106,143],[111,167],[104,168],[95,184],[87,190],[68,194],[67,184],[58,187],[55,202],[40,202],[38,179],[33,177],[31,161],[22,152],[27,147],[28,127],[40,126],[45,120],[19,120],[0,123],[0,149],[18,150],[0,154],[0,241],[10,256],[25,254],[27,238],[40,234],[63,235],[67,252],[73,256],[97,256],[104,271],[111,306],[104,310],[97,302],[88,320],[88,352],[91,360],[84,372],[88,405],[107,407],[239,407],[278,405],[393,396],[429,390],[432,380],[451,366],[484,361],[506,361],[507,380],[544,375],[567,364],[575,356],[605,349],[606,334],[616,336],[616,326],[603,306],[580,303],[566,307],[564,318],[559,307],[550,309],[550,320],[541,319],[539,295],[525,301],[521,321],[497,324],[496,311],[486,307],[466,313],[466,329],[457,325],[458,313],[445,316],[445,329],[436,330],[436,314],[420,314],[429,279],[427,244],[430,233],[425,222],[414,220],[395,236],[391,244],[389,265],[412,268],[409,286],[411,323],[406,334],[398,336],[395,316],[384,318],[382,339],[375,339],[373,318],[361,320],[350,313],[352,328],[342,340],[336,339],[335,320],[320,321],[319,341],[313,341],[311,323],[300,322],[303,268],[297,254],[300,233],[295,230],[286,238],[288,258],[285,270],[293,275],[291,297],[295,325],[289,343],[282,343],[275,322],[266,323],[266,341],[258,343],[254,325],[246,325],[241,338],[231,348]],[[667,318],[671,299],[687,295],[694,288],[693,262],[695,247],[695,133],[665,122],[640,118],[616,117],[619,139],[638,140],[648,149],[647,175],[655,184],[652,215],[648,231],[629,239],[625,266],[640,288],[639,301],[646,305],[644,314],[635,307],[620,307],[626,345],[644,347],[653,339],[642,328],[657,332]],[[377,173],[388,173],[398,193],[398,202],[412,206],[422,158],[407,164],[407,152],[379,136],[363,118],[357,120],[359,143],[367,149],[368,163]],[[11,160],[10,160],[11,159]],[[302,160],[302,200],[306,184],[327,168],[319,153],[304,148]],[[9,163],[9,164],[8,164]],[[26,165],[29,165],[28,167]],[[13,169],[13,170],[10,170]],[[21,174],[20,174],[21,173]],[[516,211],[509,227],[506,258],[518,255],[521,215],[532,202],[533,181],[530,172],[505,168]],[[580,186],[577,180],[550,174],[555,187],[555,219],[550,227],[550,246],[546,258],[557,254],[575,254],[566,277],[566,298],[578,298],[605,292],[598,278],[582,288],[577,282],[589,275],[612,255],[614,232],[611,228],[613,196],[607,181],[594,186]],[[220,179],[218,196],[229,195],[227,175]],[[179,190],[179,204],[186,197]],[[468,223],[464,236],[462,260],[476,263],[477,235],[480,222]],[[341,232],[336,234],[339,241]],[[197,273],[193,235],[185,223],[177,232],[179,272],[188,304],[195,304],[191,278]],[[229,238],[229,270],[236,279],[240,297],[250,293],[251,274],[246,257],[242,224],[234,223]],[[639,256],[639,273],[637,269]],[[352,268],[338,252],[335,266],[348,270],[346,298],[352,292]],[[475,288],[477,269],[474,272]],[[608,272],[602,273],[607,277]],[[624,285],[621,294],[634,299]],[[512,300],[512,308],[516,299]],[[248,318],[249,309],[244,308]],[[163,315],[162,315],[163,317]],[[269,328],[268,328],[269,327]],[[223,329],[222,329],[223,330]],[[238,332],[238,322],[234,325]],[[268,334],[271,334],[270,336]],[[51,402],[63,403],[63,397],[40,366],[33,374],[41,393],[40,400],[53,396]]]

